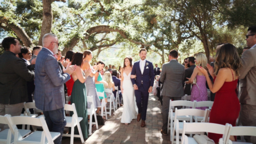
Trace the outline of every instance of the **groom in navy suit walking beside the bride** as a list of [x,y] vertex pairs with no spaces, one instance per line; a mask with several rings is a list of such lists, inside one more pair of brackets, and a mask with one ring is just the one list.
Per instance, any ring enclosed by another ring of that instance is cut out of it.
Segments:
[[132,79],[132,83],[139,113],[137,121],[142,119],[141,127],[145,127],[148,95],[154,85],[154,67],[152,62],[146,60],[146,49],[140,49],[139,56],[140,60],[134,63],[131,75],[136,75],[136,80]]

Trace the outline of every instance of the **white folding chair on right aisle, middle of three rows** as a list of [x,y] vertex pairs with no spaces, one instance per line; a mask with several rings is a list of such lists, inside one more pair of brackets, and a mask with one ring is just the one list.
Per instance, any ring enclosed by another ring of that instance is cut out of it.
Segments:
[[[179,122],[178,116],[203,116],[204,119],[206,118],[208,113],[208,109],[201,110],[201,109],[177,109],[175,108],[175,117],[174,117],[174,129],[173,129],[173,135],[170,136],[172,143],[174,143],[174,134],[176,132],[176,143],[179,143],[179,134],[183,131],[183,122]],[[179,122],[179,123],[177,123]],[[190,118],[190,123],[193,122],[192,118]],[[192,136],[190,134],[190,136]]]

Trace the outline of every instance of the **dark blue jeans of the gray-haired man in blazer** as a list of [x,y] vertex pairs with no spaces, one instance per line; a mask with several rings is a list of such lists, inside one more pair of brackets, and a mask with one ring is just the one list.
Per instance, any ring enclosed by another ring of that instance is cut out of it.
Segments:
[[59,132],[60,136],[54,140],[55,144],[61,144],[64,127],[67,124],[64,108],[44,111],[46,124],[50,132]]

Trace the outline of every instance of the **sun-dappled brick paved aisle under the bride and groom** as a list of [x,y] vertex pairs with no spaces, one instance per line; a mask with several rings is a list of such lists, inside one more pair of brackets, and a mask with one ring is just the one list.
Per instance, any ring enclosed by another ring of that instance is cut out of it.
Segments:
[[[123,107],[115,115],[105,121],[105,125],[96,130],[85,143],[171,143],[169,135],[160,133],[162,127],[161,104],[157,97],[150,94],[147,106],[146,127],[141,128],[140,122],[133,119],[131,124],[121,124]],[[94,130],[94,129],[93,129]],[[69,143],[70,138],[63,139],[62,143]],[[74,143],[81,143],[75,139]]]

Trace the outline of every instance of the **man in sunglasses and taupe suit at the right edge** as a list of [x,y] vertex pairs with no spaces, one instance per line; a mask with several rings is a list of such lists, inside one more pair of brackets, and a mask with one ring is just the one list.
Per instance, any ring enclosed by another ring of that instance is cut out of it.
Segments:
[[[247,46],[242,55],[242,67],[239,69],[240,80],[240,121],[243,126],[256,127],[256,26],[248,29]],[[255,136],[244,136],[246,142],[256,143]]]

